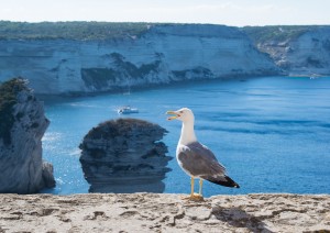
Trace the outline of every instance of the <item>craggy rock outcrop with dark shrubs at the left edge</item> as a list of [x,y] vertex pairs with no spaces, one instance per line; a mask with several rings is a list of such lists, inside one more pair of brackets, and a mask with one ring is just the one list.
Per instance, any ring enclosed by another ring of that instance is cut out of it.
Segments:
[[55,186],[53,166],[42,159],[48,124],[25,80],[0,85],[0,192],[34,193]]

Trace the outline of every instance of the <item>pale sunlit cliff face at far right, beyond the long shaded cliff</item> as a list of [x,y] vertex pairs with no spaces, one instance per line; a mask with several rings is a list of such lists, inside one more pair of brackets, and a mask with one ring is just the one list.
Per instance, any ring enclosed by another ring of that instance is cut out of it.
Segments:
[[[256,30],[270,33],[263,27]],[[273,26],[272,33],[276,36],[254,37],[254,42],[286,75],[329,76],[330,26]]]

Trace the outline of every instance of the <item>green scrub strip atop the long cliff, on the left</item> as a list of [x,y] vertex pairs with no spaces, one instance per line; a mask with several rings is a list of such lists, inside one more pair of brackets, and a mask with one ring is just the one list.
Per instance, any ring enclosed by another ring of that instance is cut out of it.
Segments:
[[151,23],[0,21],[0,40],[113,40],[140,36],[150,25]]

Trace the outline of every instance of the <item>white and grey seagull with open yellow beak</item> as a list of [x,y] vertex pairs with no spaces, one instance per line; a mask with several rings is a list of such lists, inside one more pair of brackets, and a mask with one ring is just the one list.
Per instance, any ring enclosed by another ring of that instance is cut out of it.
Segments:
[[[194,113],[188,108],[183,108],[177,111],[167,111],[170,114],[167,120],[180,120],[183,122],[182,134],[176,147],[176,159],[183,170],[190,176],[191,192],[188,199],[202,200],[201,187],[202,180],[210,182],[240,188],[226,174],[226,167],[221,165],[215,154],[205,145],[197,141],[194,131]],[[195,178],[199,178],[199,193],[194,193]]]

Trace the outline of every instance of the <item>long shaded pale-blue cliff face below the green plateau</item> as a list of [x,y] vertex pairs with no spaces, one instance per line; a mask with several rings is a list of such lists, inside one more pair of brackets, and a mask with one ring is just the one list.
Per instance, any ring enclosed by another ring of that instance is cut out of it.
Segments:
[[26,77],[37,93],[276,74],[244,33],[221,25],[151,25],[139,36],[99,41],[0,40],[0,80]]

